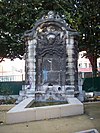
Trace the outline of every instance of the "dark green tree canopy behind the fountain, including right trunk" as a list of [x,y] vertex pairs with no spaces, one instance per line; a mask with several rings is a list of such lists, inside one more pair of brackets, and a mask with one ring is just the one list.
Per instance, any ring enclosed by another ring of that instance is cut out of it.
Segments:
[[[94,8],[96,7],[96,8]],[[94,76],[100,56],[99,0],[1,0],[0,58],[21,58],[25,52],[22,36],[34,22],[50,10],[65,16],[80,32],[79,50],[85,50]]]

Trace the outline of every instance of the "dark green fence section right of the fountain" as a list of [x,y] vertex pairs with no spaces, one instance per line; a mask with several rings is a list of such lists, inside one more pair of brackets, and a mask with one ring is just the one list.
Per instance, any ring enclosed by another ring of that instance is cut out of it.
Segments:
[[83,90],[85,90],[86,92],[100,92],[100,77],[85,78],[83,82]]

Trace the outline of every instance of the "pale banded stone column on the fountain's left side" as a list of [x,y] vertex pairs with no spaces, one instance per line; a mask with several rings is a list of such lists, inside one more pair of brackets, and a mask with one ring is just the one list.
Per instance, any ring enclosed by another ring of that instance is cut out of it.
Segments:
[[36,40],[28,40],[27,47],[27,80],[30,85],[30,90],[35,92],[36,82]]

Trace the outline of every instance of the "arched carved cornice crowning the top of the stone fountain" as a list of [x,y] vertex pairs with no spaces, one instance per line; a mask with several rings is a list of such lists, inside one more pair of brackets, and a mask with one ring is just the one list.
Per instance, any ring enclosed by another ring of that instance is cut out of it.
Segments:
[[[79,35],[75,29],[72,29],[68,23],[66,23],[64,17],[60,16],[58,13],[49,11],[48,14],[43,15],[43,17],[35,23],[31,30],[25,32],[24,37],[32,39],[37,37],[38,33],[49,33],[63,31],[66,33],[68,31],[69,35]],[[38,34],[39,36],[39,34]]]

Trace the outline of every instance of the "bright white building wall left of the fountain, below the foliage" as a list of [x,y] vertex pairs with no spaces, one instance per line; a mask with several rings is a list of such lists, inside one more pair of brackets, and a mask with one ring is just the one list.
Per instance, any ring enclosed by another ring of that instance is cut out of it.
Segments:
[[0,63],[0,82],[25,80],[24,64],[24,60],[19,59],[2,61]]

